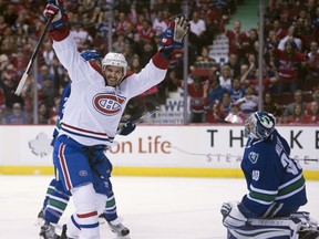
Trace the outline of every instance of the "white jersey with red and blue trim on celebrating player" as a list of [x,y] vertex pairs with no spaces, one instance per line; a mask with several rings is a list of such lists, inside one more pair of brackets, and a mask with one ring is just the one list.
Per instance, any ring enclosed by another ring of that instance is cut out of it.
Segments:
[[59,134],[85,146],[111,146],[130,98],[158,84],[167,71],[157,53],[140,73],[126,75],[120,85],[112,87],[105,85],[101,69],[81,58],[71,34],[53,41],[53,49],[72,81]]

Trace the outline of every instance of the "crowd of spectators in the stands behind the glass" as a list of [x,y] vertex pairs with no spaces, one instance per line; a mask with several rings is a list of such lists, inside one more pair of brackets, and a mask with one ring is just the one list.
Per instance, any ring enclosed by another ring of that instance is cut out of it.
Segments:
[[[186,8],[185,1],[178,0],[119,0],[113,6],[109,2],[64,0],[71,32],[79,51],[95,49],[105,55],[111,48],[126,56],[133,72],[144,67],[161,46],[161,34],[168,21]],[[259,71],[264,75],[265,111],[284,124],[319,123],[319,1],[269,0],[260,67],[257,23],[256,29],[243,31],[241,22],[231,19],[245,0],[187,2],[189,123],[244,123],[247,115],[258,110]],[[32,124],[34,117],[38,124],[56,122],[69,76],[49,39],[38,53],[39,71],[31,72],[21,96],[14,94],[45,24],[42,10],[41,0],[0,0],[0,124]],[[234,25],[227,29],[230,19]],[[107,45],[109,31],[112,45]],[[209,54],[209,46],[219,34],[228,38],[225,64]],[[183,52],[176,53],[162,83],[131,100],[125,117],[136,118],[146,110],[165,104],[169,92],[184,89],[182,79]]]

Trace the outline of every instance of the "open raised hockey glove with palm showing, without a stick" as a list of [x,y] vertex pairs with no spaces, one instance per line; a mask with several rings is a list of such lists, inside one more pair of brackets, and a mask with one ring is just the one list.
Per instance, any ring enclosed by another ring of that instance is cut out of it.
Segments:
[[168,23],[168,28],[162,35],[161,53],[165,59],[169,59],[174,50],[183,49],[183,40],[189,31],[188,20],[184,15],[177,17],[174,21]]

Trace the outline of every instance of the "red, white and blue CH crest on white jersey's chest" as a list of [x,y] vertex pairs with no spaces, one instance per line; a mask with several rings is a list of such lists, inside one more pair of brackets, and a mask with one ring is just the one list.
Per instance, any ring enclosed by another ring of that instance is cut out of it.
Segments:
[[93,98],[94,108],[101,114],[115,115],[122,111],[125,97],[114,94],[97,94]]

